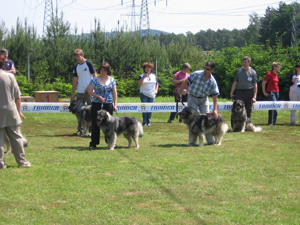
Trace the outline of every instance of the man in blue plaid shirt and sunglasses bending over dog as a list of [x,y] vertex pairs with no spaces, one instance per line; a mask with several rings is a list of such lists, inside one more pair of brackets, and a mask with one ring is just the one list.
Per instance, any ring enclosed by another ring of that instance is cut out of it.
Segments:
[[[185,86],[189,83],[188,86],[188,97],[187,97],[187,105],[195,109],[196,111],[200,111],[201,114],[209,113],[209,101],[208,95],[212,95],[213,100],[213,110],[212,113],[215,118],[218,118],[217,113],[217,103],[218,103],[218,95],[219,88],[217,85],[217,81],[212,76],[211,72],[214,71],[216,63],[213,61],[208,61],[204,70],[198,70],[192,73],[181,85],[180,90],[178,91],[178,97],[181,99],[181,93]],[[189,133],[189,139],[191,138],[191,134]],[[208,145],[214,145],[215,142],[212,138],[212,134],[206,135],[206,141]],[[196,145],[196,143],[193,143]]]

